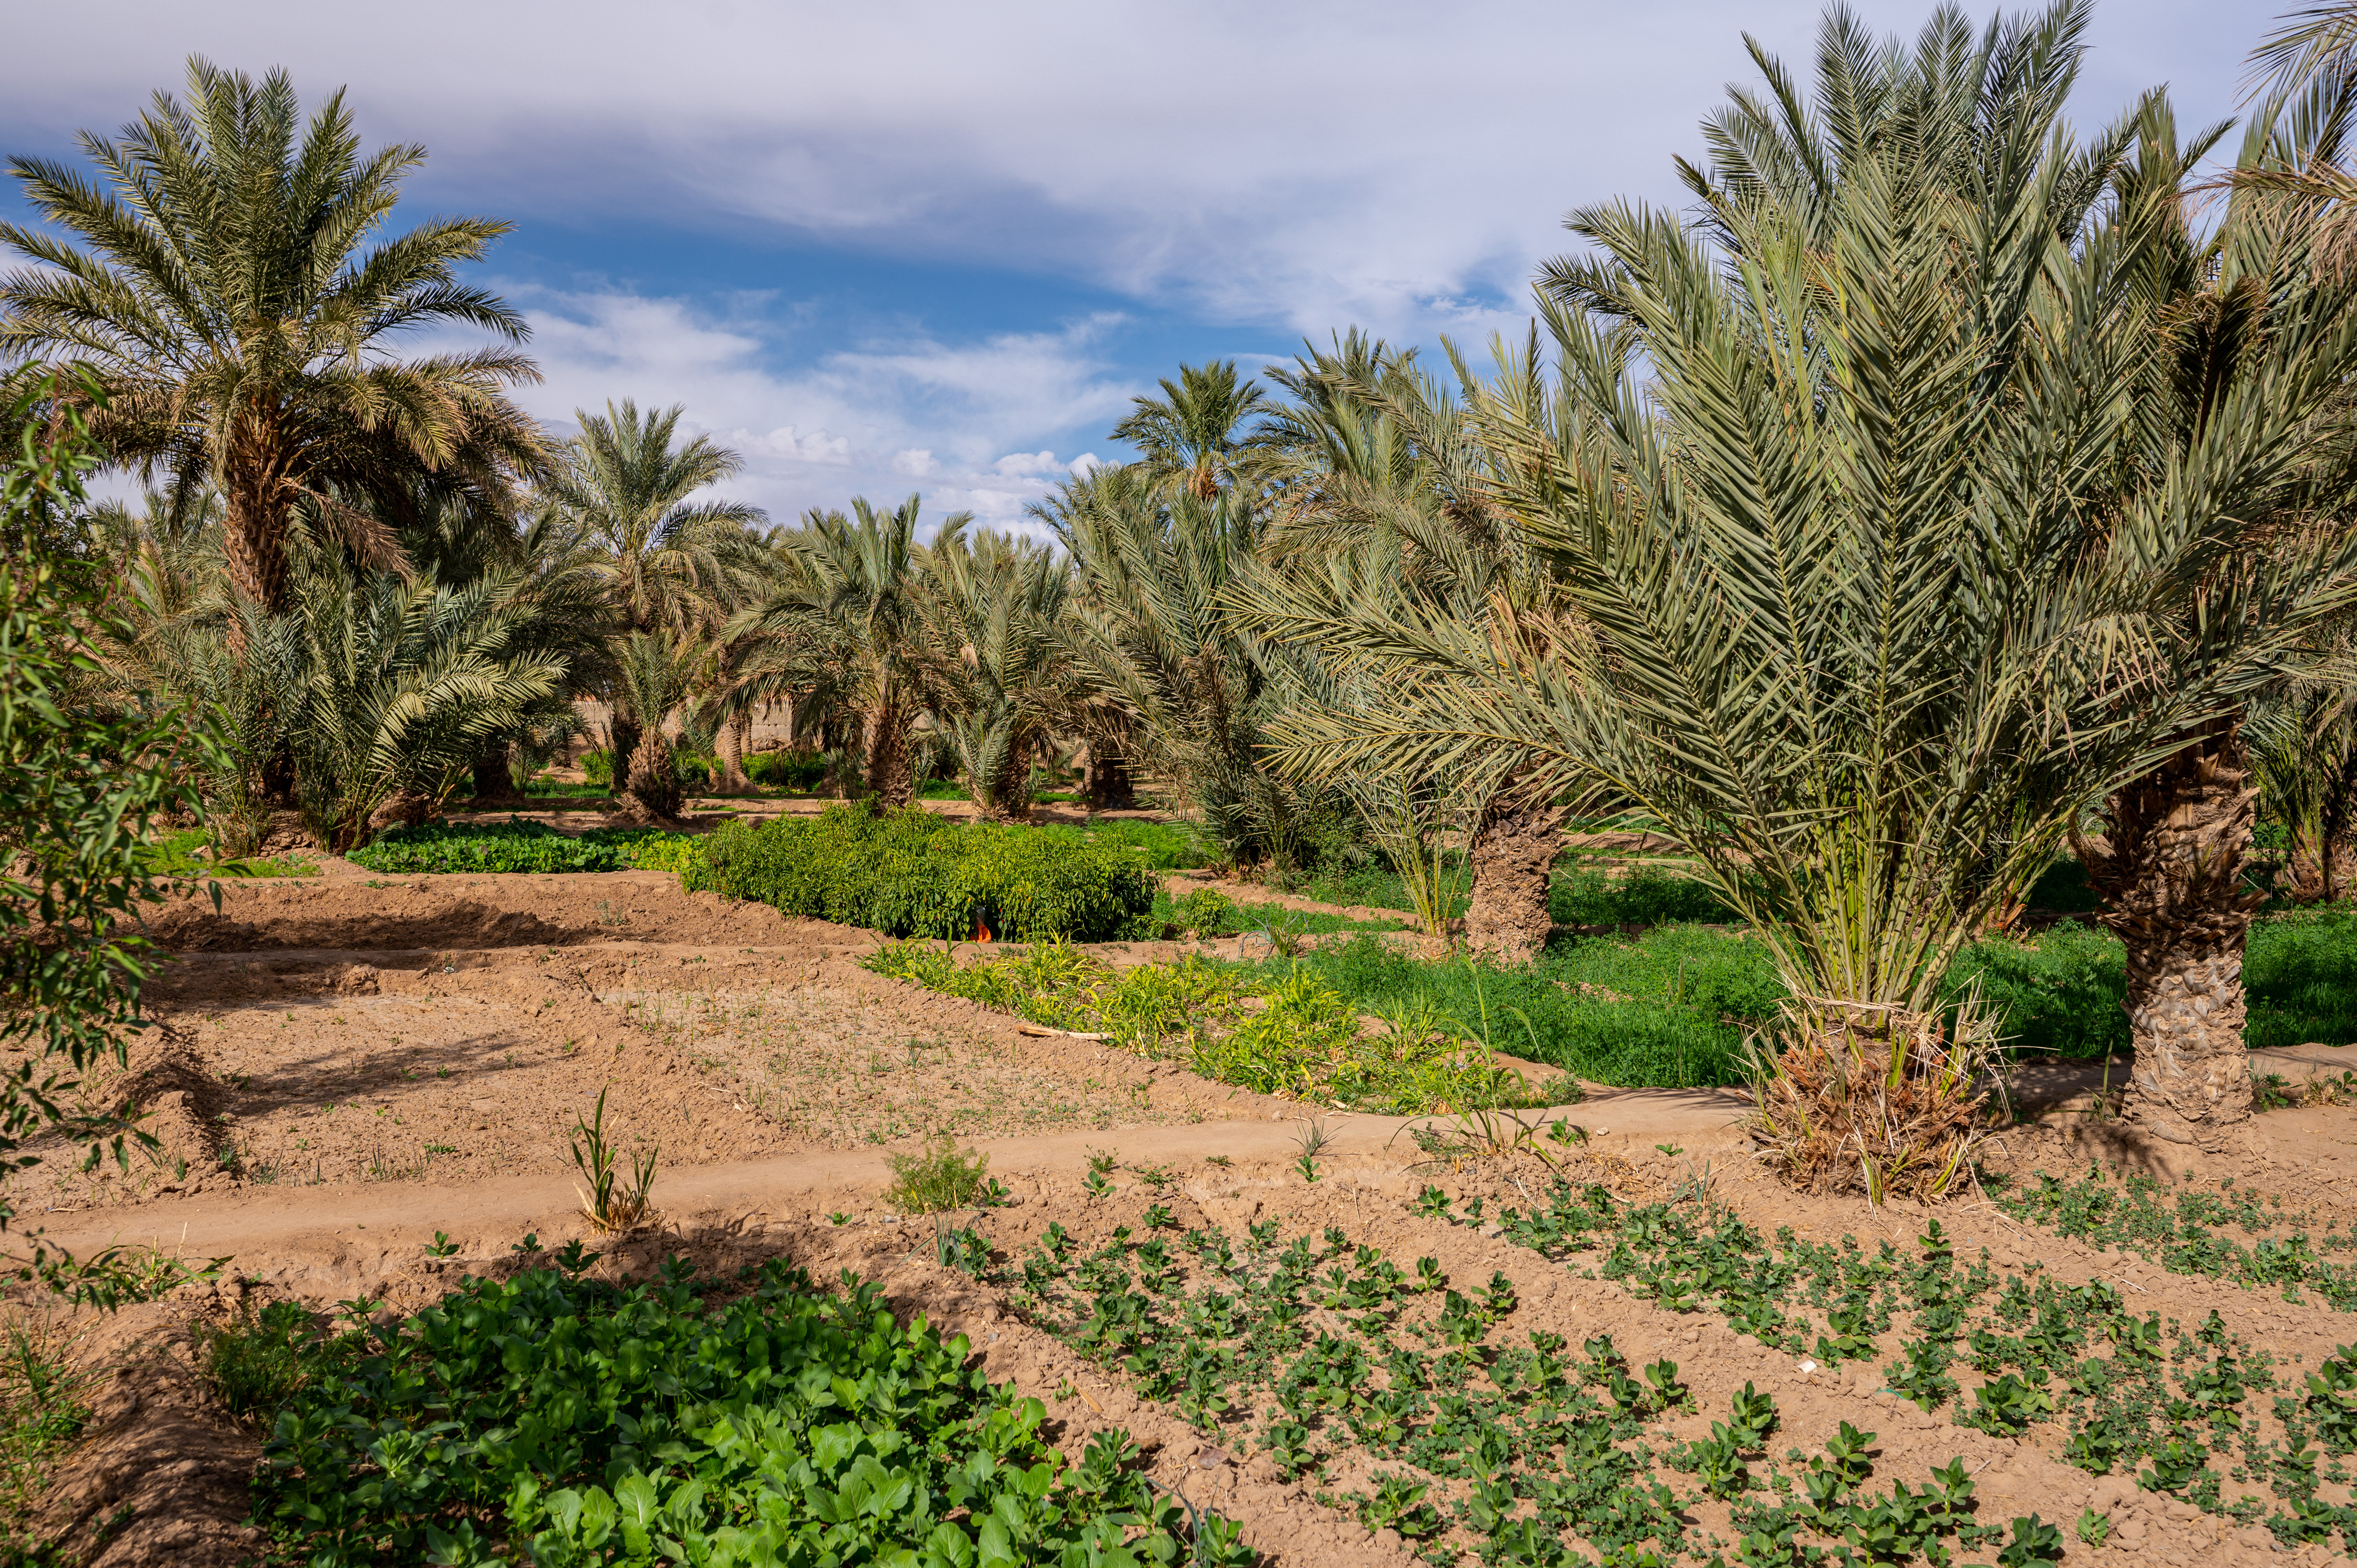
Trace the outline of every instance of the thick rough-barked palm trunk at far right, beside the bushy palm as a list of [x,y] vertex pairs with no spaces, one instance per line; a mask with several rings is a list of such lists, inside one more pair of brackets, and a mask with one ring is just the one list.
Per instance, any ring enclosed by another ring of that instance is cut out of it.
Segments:
[[2072,846],[2098,920],[2128,946],[2135,1066],[2126,1118],[2157,1139],[2223,1148],[2251,1118],[2242,955],[2251,910],[2251,762],[2237,724],[2197,733],[2112,797],[2110,832]]

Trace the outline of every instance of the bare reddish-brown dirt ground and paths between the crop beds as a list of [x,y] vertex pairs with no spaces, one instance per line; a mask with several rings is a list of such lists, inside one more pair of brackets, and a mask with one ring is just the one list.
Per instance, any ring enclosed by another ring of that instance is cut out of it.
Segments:
[[[886,1155],[948,1129],[990,1155],[1011,1203],[978,1219],[1006,1254],[1061,1224],[1082,1247],[1160,1205],[1176,1228],[1282,1236],[1343,1226],[1402,1266],[1435,1257],[1452,1276],[1504,1273],[1516,1332],[1579,1344],[1615,1335],[1629,1363],[1673,1356],[1697,1415],[1673,1436],[1702,1436],[1747,1382],[1784,1412],[1777,1443],[1820,1445],[1841,1422],[1879,1434],[1883,1474],[1921,1476],[1963,1457],[1985,1516],[2039,1511],[2067,1523],[2093,1507],[2114,1521],[2102,1549],[2069,1540],[2069,1563],[2322,1563],[2319,1547],[2275,1551],[2263,1533],[2190,1504],[2098,1481],[2058,1457],[2060,1431],[2022,1441],[1954,1427],[1881,1389],[1879,1363],[1848,1375],[1805,1370],[1791,1353],[1737,1337],[1711,1313],[1681,1316],[1603,1278],[1549,1264],[1480,1226],[1419,1217],[1412,1198],[1445,1179],[1464,1195],[1511,1193],[1534,1172],[1497,1162],[1440,1170],[1402,1122],[1325,1115],[1322,1179],[1294,1167],[1301,1106],[1207,1082],[1084,1037],[1042,1035],[966,1002],[867,974],[874,936],[773,910],[684,896],[653,872],[559,877],[372,877],[330,865],[304,882],[224,889],[224,908],[191,901],[156,920],[181,953],[153,995],[158,1030],[132,1073],[94,1094],[153,1113],[163,1160],[130,1177],[33,1172],[24,1207],[71,1247],[153,1243],[191,1261],[229,1259],[214,1283],[163,1302],[68,1323],[82,1365],[99,1372],[94,1419],[57,1474],[38,1528],[64,1561],[247,1561],[245,1478],[257,1436],[231,1424],[196,1375],[191,1325],[255,1297],[332,1306],[370,1297],[415,1311],[464,1273],[516,1266],[514,1243],[589,1238],[577,1214],[568,1129],[606,1092],[622,1148],[660,1146],[660,1233],[606,1245],[601,1271],[646,1271],[667,1252],[709,1269],[790,1257],[816,1278],[856,1269],[900,1311],[962,1330],[997,1379],[1049,1403],[1061,1443],[1080,1452],[1101,1427],[1127,1427],[1157,1481],[1197,1507],[1240,1518],[1282,1568],[1409,1563],[1395,1537],[1369,1535],[1266,1457],[1207,1445],[1169,1405],[1143,1403],[1117,1375],[1023,1320],[992,1285],[933,1261],[924,1221],[889,1212]],[[1138,943],[1108,957],[1164,955]],[[2324,1063],[2331,1066],[2331,1063]],[[2168,1181],[2234,1177],[2289,1210],[2357,1214],[2357,1113],[2315,1106],[2258,1122],[2246,1155],[2173,1167],[2126,1141],[2088,1103],[2079,1075],[2025,1085],[2048,1122],[1992,1146],[1996,1170],[2072,1172],[2102,1162]],[[1737,1134],[1744,1101],[1728,1092],[1598,1094],[1567,1115],[1591,1141],[1574,1174],[1629,1200],[1695,1191],[1761,1233],[1855,1236],[1909,1245],[1930,1217],[1912,1207],[1805,1198],[1772,1181]],[[1084,1188],[1091,1153],[1115,1160],[1115,1188]],[[1520,1172],[1520,1174],[1518,1174]],[[2105,1278],[2138,1311],[2185,1323],[2218,1311],[2279,1368],[2315,1365],[2357,1339],[2357,1323],[2312,1297],[2286,1302],[2164,1273],[2027,1231],[1985,1200],[1937,1217],[1959,1254],[1989,1247],[1996,1266],[2060,1280]],[[450,1257],[424,1243],[445,1233]],[[1593,1261],[1593,1259],[1591,1259]],[[16,1311],[33,1311],[19,1302]],[[1355,1471],[1325,1485],[1365,1483]],[[2338,1490],[2329,1493],[2341,1497]],[[1718,1504],[1711,1504],[1718,1507]],[[1723,1509],[1721,1509],[1723,1514]],[[1709,1509],[1699,1530],[1725,1535]],[[1989,1559],[1994,1547],[1968,1559]]]

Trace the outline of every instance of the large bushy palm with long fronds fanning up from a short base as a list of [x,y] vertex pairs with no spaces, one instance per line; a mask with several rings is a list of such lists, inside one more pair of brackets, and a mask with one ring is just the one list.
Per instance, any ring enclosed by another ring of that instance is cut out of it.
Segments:
[[[1577,622],[1259,606],[1384,693],[1287,750],[1431,773],[1513,747],[1692,854],[1789,993],[1763,1137],[1871,1195],[1949,1191],[1968,1158],[1994,1033],[1937,1012],[1954,953],[2357,587],[2357,542],[2324,531],[2218,573],[2286,488],[2348,500],[2312,462],[2357,370],[2348,290],[2275,266],[2246,373],[2199,427],[2147,422],[2121,389],[2168,363],[2171,316],[2143,241],[2183,189],[2131,179],[2081,222],[2069,174],[2119,167],[2126,134],[1994,130],[1970,191],[1893,137],[1822,210],[1714,215],[1732,245],[1626,203],[1572,217],[1603,309],[1544,302],[1546,417],[1511,387],[1473,417]],[[2133,130],[2171,139],[2152,104]]]

